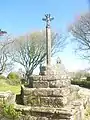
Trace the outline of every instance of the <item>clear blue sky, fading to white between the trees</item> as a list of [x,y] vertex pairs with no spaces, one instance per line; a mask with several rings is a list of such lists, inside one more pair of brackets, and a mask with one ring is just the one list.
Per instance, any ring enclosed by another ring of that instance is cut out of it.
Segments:
[[[12,36],[19,36],[45,28],[42,18],[50,13],[54,20],[52,30],[67,34],[68,27],[77,17],[89,10],[88,0],[0,0],[0,28]],[[56,56],[69,71],[88,67],[87,61],[80,60],[68,45]]]

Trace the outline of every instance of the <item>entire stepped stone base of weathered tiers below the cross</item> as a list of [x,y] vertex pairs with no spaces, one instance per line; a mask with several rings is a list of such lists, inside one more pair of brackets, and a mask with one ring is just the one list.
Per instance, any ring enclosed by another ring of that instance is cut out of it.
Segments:
[[32,81],[33,88],[21,87],[24,106],[16,106],[25,114],[25,120],[83,120],[84,105],[79,101],[79,88],[72,87],[68,78],[38,75],[30,76]]

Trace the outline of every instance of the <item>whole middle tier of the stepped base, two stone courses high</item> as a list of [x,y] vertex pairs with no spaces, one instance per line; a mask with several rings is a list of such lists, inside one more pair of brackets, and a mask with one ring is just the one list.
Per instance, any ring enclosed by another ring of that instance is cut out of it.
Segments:
[[69,88],[23,88],[24,104],[30,106],[62,107],[67,104]]

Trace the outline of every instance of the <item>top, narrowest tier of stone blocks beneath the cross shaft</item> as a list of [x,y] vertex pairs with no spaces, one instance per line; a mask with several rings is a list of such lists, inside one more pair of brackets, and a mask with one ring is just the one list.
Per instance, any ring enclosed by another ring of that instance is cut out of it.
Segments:
[[66,76],[31,76],[30,81],[33,81],[33,88],[61,88],[70,86],[70,80]]

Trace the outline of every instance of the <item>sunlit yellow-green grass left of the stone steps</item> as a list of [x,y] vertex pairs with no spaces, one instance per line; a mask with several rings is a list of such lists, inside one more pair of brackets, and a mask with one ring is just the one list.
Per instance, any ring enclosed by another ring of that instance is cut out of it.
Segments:
[[21,87],[20,85],[17,85],[17,86],[12,86],[12,85],[9,85],[6,83],[6,80],[4,79],[0,79],[0,92],[3,91],[12,91],[13,93],[15,94],[19,94],[20,93],[20,90],[21,90]]

